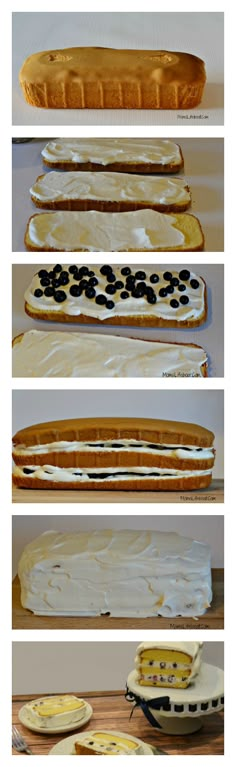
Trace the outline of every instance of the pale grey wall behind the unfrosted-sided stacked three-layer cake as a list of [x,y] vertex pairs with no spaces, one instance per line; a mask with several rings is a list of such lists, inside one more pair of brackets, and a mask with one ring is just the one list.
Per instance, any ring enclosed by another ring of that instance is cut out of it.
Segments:
[[223,477],[223,391],[13,391],[13,434],[43,421],[128,416],[166,418],[205,426],[215,434],[213,476]]

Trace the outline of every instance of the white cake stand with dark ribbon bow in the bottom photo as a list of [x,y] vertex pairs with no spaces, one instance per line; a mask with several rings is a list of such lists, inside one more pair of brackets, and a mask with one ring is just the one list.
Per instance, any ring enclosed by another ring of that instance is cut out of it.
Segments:
[[208,663],[201,664],[198,676],[185,690],[143,687],[137,682],[136,670],[129,674],[127,688],[131,694],[144,701],[163,696],[169,697],[168,705],[158,711],[149,705],[150,713],[162,731],[168,735],[188,735],[197,732],[202,727],[203,716],[221,711],[224,707],[224,672]]

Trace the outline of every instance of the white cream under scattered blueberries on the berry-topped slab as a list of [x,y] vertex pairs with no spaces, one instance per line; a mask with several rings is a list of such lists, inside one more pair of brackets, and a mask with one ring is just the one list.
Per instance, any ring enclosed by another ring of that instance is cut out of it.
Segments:
[[[164,280],[163,276],[165,270],[159,270],[158,266],[154,264],[151,267],[144,266],[140,267],[140,269],[141,268],[144,269],[146,274],[146,284],[148,286],[152,286],[152,288],[155,290],[157,299],[155,304],[149,304],[145,297],[138,299],[133,298],[131,293],[128,298],[123,300],[120,298],[120,291],[111,296],[115,303],[115,307],[112,310],[107,309],[103,305],[101,306],[96,304],[94,300],[87,298],[84,292],[81,294],[81,296],[79,296],[79,298],[75,298],[70,294],[70,287],[75,284],[73,274],[70,273],[68,285],[62,286],[62,290],[66,293],[66,299],[63,301],[63,303],[58,304],[53,297],[45,296],[45,294],[43,294],[40,298],[36,298],[34,292],[36,289],[41,288],[38,274],[35,274],[29,288],[25,292],[25,301],[30,306],[32,306],[33,309],[39,311],[63,312],[65,314],[69,314],[72,317],[83,314],[86,317],[94,317],[95,319],[99,320],[106,320],[109,317],[151,316],[158,317],[163,320],[177,320],[178,322],[184,322],[185,320],[197,320],[198,318],[202,317],[204,314],[205,305],[205,283],[201,277],[198,275],[196,276],[196,274],[193,272],[190,272],[189,280],[184,283],[186,285],[184,295],[188,296],[189,303],[181,304],[179,303],[179,299],[183,293],[181,294],[177,290],[175,290],[172,294],[168,294],[165,298],[159,295],[160,289],[166,288],[168,285],[168,281]],[[53,269],[53,267],[48,266],[48,270],[50,269]],[[68,264],[63,265],[63,269],[68,269]],[[113,269],[116,274],[116,279],[121,280],[125,284],[125,277],[121,274],[122,266],[114,265]],[[96,286],[96,288],[98,288],[98,292],[104,293],[104,295],[107,296],[105,293],[107,281],[106,277],[100,272],[100,266],[92,265],[92,271],[94,272],[95,277],[98,279],[98,285]],[[156,284],[150,282],[150,277],[153,273],[156,273],[159,276],[159,282]],[[172,269],[171,274],[173,277],[178,278],[179,272]],[[197,279],[199,282],[199,287],[197,289],[191,287],[190,281],[192,279]],[[177,308],[170,306],[170,301],[172,298],[178,299],[179,305]]]

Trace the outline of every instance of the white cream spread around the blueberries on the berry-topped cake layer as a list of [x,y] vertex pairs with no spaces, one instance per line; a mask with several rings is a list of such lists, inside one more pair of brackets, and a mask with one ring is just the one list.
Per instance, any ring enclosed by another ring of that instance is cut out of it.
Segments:
[[[77,268],[77,274],[70,271],[73,268]],[[130,274],[125,276],[122,274],[125,267],[113,265],[112,270],[115,275],[115,282],[121,282],[122,287],[117,288],[114,294],[109,294],[107,289],[110,290],[110,283],[107,281],[107,275],[101,274],[101,268],[103,267],[92,265],[91,269],[87,267],[87,271],[93,277],[90,278],[89,275],[85,274],[85,283],[87,287],[90,287],[90,279],[95,278],[98,282],[94,286],[94,297],[88,298],[85,292],[86,286],[83,290],[79,288],[79,291],[77,291],[79,295],[73,295],[73,292],[76,292],[76,287],[74,286],[80,286],[83,268],[86,269],[86,267],[80,265],[76,267],[76,265],[69,266],[65,264],[63,266],[63,272],[67,275],[68,282],[59,286],[59,290],[64,294],[63,300],[59,303],[55,299],[54,290],[52,291],[52,296],[47,295],[47,290],[45,293],[45,286],[42,284],[40,277],[42,271],[40,270],[39,274],[35,274],[29,288],[25,292],[26,303],[33,309],[41,312],[53,312],[55,314],[63,312],[71,317],[83,315],[101,321],[112,317],[146,316],[148,318],[151,316],[167,320],[168,322],[177,321],[181,323],[189,320],[200,320],[204,315],[205,283],[201,277],[196,276],[189,269],[181,269],[180,271],[172,269],[171,272],[168,272],[167,270],[159,270],[156,265],[142,266],[140,268],[131,266],[127,267]],[[79,270],[81,271],[79,272]],[[50,274],[53,271],[53,267],[48,266],[43,271],[45,271],[45,274]],[[60,278],[60,273],[54,272],[54,276]],[[139,273],[145,274],[144,280],[135,279],[135,274]],[[187,279],[183,279],[183,273],[188,275]],[[81,274],[81,279],[79,274]],[[167,278],[169,274],[171,275],[170,279]],[[146,294],[138,298],[135,297],[132,286],[127,289],[128,278],[129,280],[135,279],[134,287],[139,286],[140,282],[145,281],[147,288],[150,288],[154,295],[153,302],[148,302]],[[153,281],[154,279],[156,279],[156,282]],[[177,284],[173,285],[173,282],[177,282]],[[49,286],[53,284],[50,276],[48,277],[47,284]],[[37,291],[36,295],[35,291]],[[127,294],[125,299],[122,297],[123,292]],[[98,294],[102,294],[105,297],[105,304],[98,304],[96,302]],[[112,308],[107,306],[107,301],[110,299],[114,304]],[[185,303],[183,303],[183,299]]]

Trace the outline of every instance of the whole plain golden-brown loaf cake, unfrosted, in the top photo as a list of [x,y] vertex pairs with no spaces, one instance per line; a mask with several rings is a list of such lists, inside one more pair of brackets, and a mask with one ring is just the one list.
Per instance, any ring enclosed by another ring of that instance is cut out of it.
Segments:
[[19,80],[28,104],[47,109],[192,109],[206,73],[190,53],[86,47],[34,53]]

